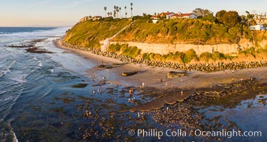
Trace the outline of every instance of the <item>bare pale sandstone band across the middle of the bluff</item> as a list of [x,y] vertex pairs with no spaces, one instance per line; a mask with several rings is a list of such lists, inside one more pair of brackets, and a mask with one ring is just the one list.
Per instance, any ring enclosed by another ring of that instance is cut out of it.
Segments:
[[[218,51],[224,54],[235,54],[239,50],[244,50],[246,48],[255,47],[255,43],[249,40],[240,40],[236,44],[216,44],[216,45],[194,45],[194,44],[182,44],[182,43],[135,43],[135,42],[110,42],[110,44],[128,44],[130,46],[136,46],[141,49],[141,53],[157,53],[165,55],[168,53],[183,52],[193,49],[197,55],[205,52],[215,52]],[[267,40],[262,40],[258,43],[258,47],[264,48],[267,45]]]

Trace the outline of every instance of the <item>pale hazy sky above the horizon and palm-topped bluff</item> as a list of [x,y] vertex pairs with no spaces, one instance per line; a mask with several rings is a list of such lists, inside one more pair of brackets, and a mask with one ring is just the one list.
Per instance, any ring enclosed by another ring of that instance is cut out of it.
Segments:
[[133,14],[160,13],[173,11],[189,13],[196,8],[209,9],[216,13],[222,9],[245,14],[266,13],[266,0],[1,0],[0,26],[72,26],[83,16],[105,16],[113,12],[114,6],[127,6],[130,16],[130,3]]

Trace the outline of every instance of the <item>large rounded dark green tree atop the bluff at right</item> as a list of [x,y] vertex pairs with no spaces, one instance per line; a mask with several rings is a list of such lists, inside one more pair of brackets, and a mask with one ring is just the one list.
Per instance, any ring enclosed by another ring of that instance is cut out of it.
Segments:
[[218,11],[216,13],[216,17],[218,18],[219,22],[225,23],[231,27],[236,26],[237,23],[241,23],[241,17],[236,11]]

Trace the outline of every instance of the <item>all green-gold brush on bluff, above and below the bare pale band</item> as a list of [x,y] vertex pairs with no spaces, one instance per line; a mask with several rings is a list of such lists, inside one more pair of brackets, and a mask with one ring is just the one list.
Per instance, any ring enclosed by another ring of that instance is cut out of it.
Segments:
[[[201,16],[201,15],[199,15]],[[162,62],[214,62],[217,60],[253,59],[266,60],[266,47],[260,47],[261,41],[267,40],[266,31],[250,31],[246,18],[242,18],[236,11],[219,11],[216,17],[210,11],[197,19],[177,18],[160,19],[153,23],[150,15],[135,16],[135,22],[130,24],[127,18],[104,18],[100,21],[85,21],[77,23],[66,33],[65,41],[72,45],[85,48],[100,49],[100,41],[111,38],[125,26],[112,41],[120,42],[112,44],[108,51],[132,58],[145,60],[159,60]],[[137,47],[130,47],[127,42],[141,43],[184,43],[196,45],[237,44],[240,40],[253,43],[253,47],[236,55],[224,53],[201,53],[197,55],[194,50],[186,52],[169,53],[159,55],[155,53],[143,53]],[[125,44],[123,44],[125,43]]]

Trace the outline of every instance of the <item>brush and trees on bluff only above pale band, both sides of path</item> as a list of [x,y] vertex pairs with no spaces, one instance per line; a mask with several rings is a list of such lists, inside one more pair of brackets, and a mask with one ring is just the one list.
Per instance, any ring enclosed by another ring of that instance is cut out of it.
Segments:
[[[248,26],[241,23],[238,13],[219,11],[217,15],[218,19],[209,14],[198,19],[162,19],[157,23],[152,23],[150,15],[135,16],[135,23],[119,33],[113,40],[214,45],[238,43],[241,38],[251,39],[251,31]],[[100,40],[112,37],[129,23],[128,19],[112,18],[80,22],[67,32],[65,40],[74,45],[100,48]]]

